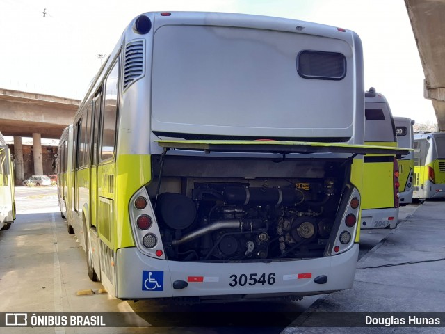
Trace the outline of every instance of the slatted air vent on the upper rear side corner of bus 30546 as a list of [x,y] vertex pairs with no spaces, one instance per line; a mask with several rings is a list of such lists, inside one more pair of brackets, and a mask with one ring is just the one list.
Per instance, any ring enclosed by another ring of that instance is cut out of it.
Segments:
[[144,75],[144,41],[136,40],[125,46],[124,89]]

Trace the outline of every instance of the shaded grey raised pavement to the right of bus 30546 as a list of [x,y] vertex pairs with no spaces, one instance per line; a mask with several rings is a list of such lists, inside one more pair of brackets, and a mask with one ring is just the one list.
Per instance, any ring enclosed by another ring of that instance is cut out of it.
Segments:
[[[445,312],[444,273],[445,200],[426,201],[359,259],[353,289],[318,299],[282,334],[445,333],[444,313],[437,313]],[[395,318],[409,324],[413,314],[439,317],[440,324],[394,326]],[[392,323],[374,327],[366,324],[366,315],[369,322],[381,318]],[[326,328],[335,322],[332,317],[339,327]]]

